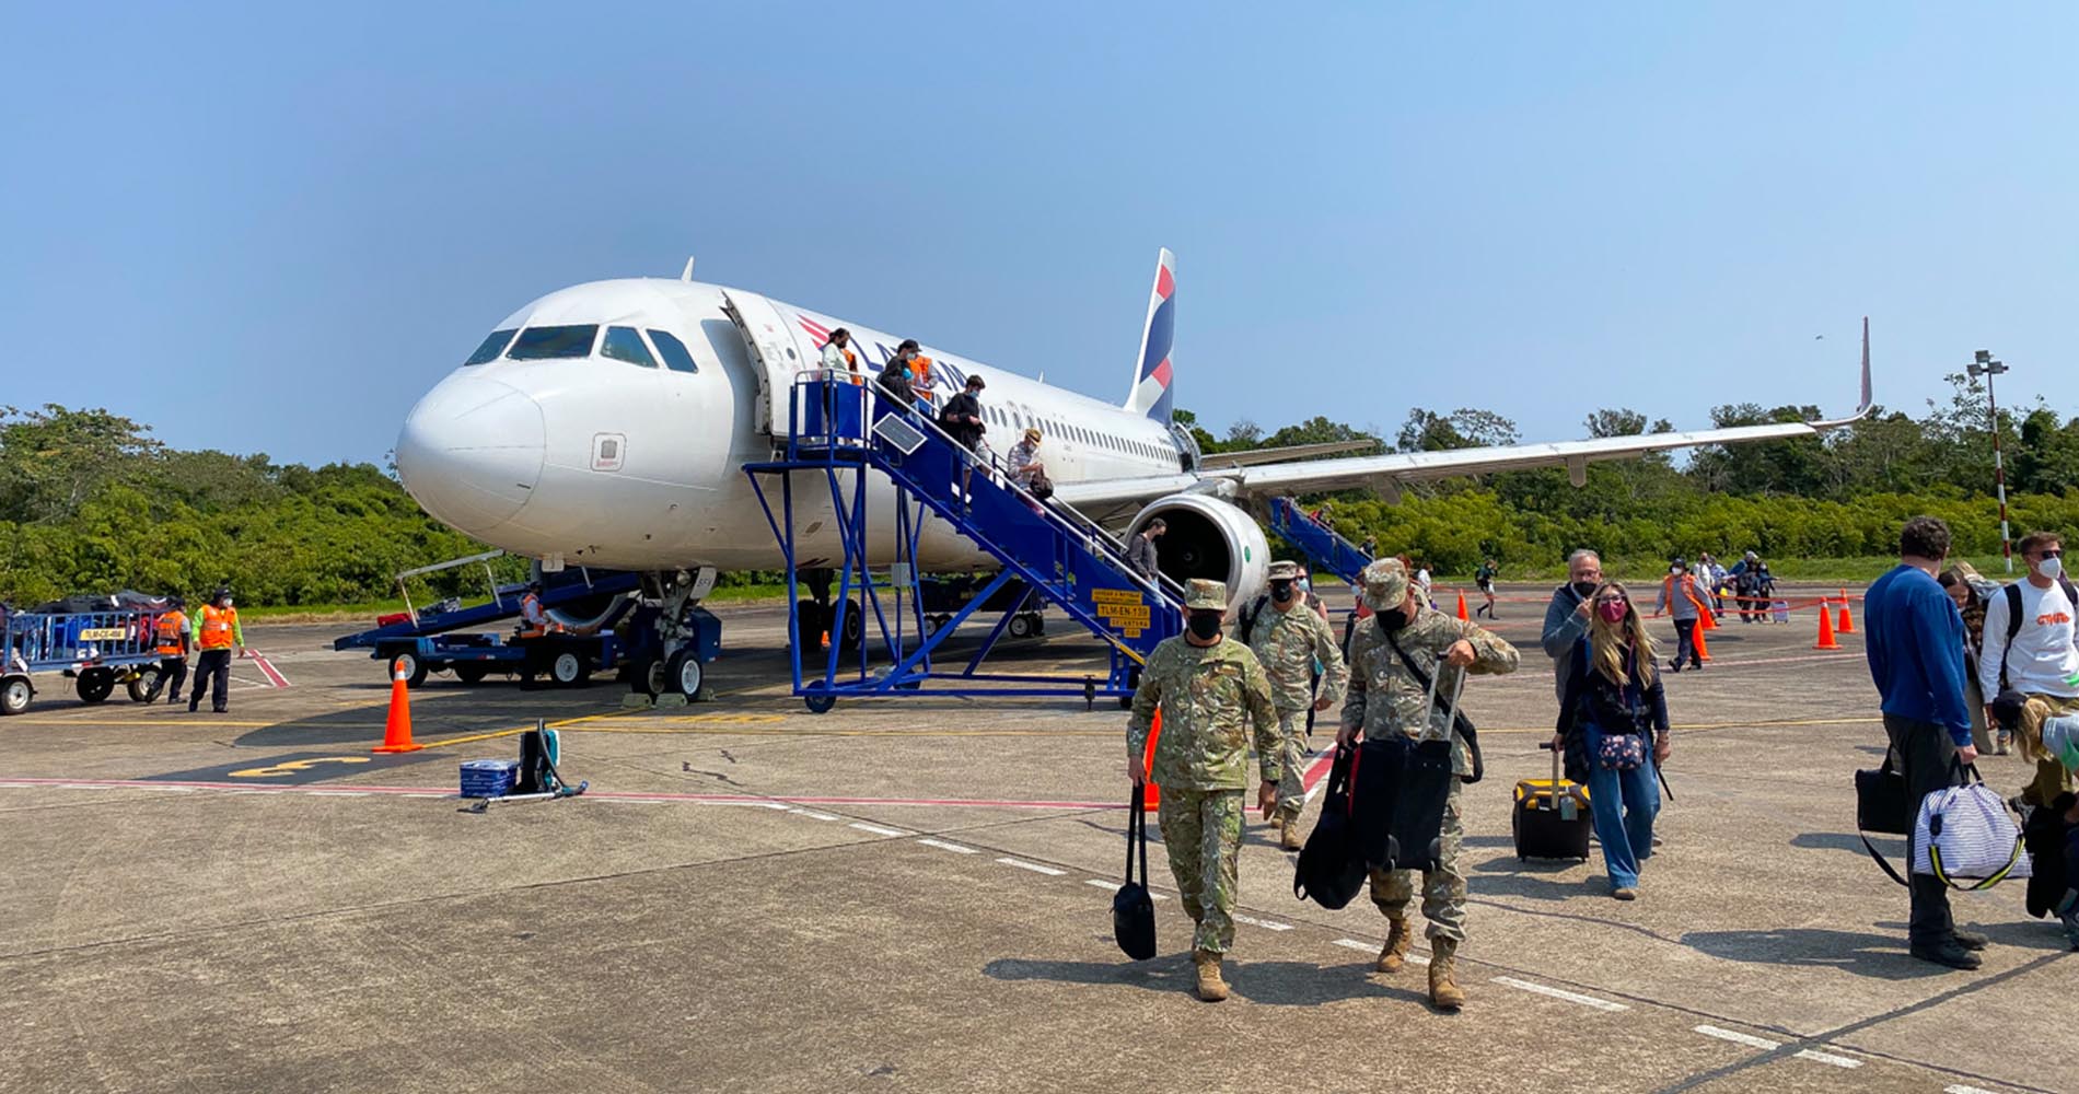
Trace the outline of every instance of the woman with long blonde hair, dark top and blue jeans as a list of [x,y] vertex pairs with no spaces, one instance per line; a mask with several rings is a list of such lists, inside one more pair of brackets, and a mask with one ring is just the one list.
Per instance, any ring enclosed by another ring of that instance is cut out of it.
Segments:
[[1653,857],[1653,817],[1661,811],[1657,765],[1669,751],[1667,693],[1630,593],[1607,582],[1590,603],[1595,611],[1574,647],[1553,747],[1565,751],[1568,778],[1588,788],[1609,894],[1636,901],[1638,867]]

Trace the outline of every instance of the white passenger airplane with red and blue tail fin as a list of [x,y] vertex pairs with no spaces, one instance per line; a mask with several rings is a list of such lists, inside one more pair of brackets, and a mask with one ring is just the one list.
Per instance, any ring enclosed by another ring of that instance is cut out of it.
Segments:
[[[1655,433],[1547,445],[1474,447],[1299,460],[1349,445],[1204,455],[1170,424],[1177,262],[1160,252],[1141,351],[1123,403],[992,368],[925,345],[942,403],[969,374],[985,379],[988,439],[1002,451],[1025,426],[1044,435],[1056,499],[1131,535],[1164,518],[1162,570],[1220,578],[1239,601],[1264,584],[1268,549],[1243,505],[1272,495],[1565,466],[1576,485],[1595,460],[1692,445],[1811,437],[1869,412],[1869,322],[1863,401],[1848,418]],[[665,616],[705,595],[715,570],[784,566],[744,464],[786,443],[796,376],[819,366],[834,329],[852,333],[871,376],[896,335],[744,289],[678,279],[595,281],[553,291],[497,324],[470,358],[412,408],[397,437],[397,472],[437,520],[549,570],[593,566],[655,576]],[[879,476],[875,476],[879,478]],[[813,499],[817,491],[798,491]],[[800,566],[840,555],[838,520],[796,512]],[[869,505],[892,512],[894,487],[869,483]],[[892,520],[869,543],[894,562]],[[992,568],[946,522],[931,522],[917,559],[931,570]]]

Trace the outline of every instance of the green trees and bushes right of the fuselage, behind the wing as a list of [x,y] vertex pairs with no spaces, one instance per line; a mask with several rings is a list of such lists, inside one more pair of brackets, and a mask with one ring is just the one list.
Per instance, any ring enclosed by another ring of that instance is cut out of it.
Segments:
[[[1881,557],[1898,549],[1898,526],[1917,514],[1948,520],[1958,553],[1994,555],[2000,520],[1985,389],[1965,374],[1948,383],[1950,397],[1929,401],[1921,416],[1875,408],[1821,437],[1701,447],[1684,466],[1665,453],[1593,464],[1578,489],[1563,470],[1547,468],[1410,485],[1399,505],[1345,491],[1331,495],[1331,522],[1349,539],[1376,537],[1380,551],[1420,557],[1441,574],[1470,574],[1482,557],[1514,574],[1551,574],[1578,547],[1630,562],[1632,572],[1657,572],[1665,559],[1699,551]],[[1476,408],[1412,408],[1391,435],[1316,416],[1277,433],[1243,420],[1214,437],[1189,412],[1177,418],[1208,453],[1322,441],[1437,451],[1520,439],[1516,422]],[[1811,406],[1711,410],[1715,426],[1813,418],[1819,412]],[[1674,426],[1636,410],[1601,408],[1582,428],[1588,437],[1624,437]],[[2079,530],[2079,418],[2060,418],[2037,399],[2002,408],[2000,435],[2015,535]]]

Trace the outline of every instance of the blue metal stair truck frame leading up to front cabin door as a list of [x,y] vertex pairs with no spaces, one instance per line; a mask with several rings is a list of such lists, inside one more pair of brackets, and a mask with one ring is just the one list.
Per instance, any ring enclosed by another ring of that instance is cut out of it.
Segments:
[[[825,422],[823,410],[832,401],[852,401],[857,408],[838,408]],[[782,512],[773,512],[771,487],[763,480],[782,474],[798,480],[802,470],[821,470],[838,503],[844,532],[844,589],[840,593],[840,620],[832,624],[832,634],[842,634],[842,614],[857,609],[854,589],[867,593],[869,626],[879,626],[881,647],[890,659],[886,672],[869,672],[867,645],[871,634],[863,634],[859,661],[840,670],[838,651],[830,651],[821,680],[800,670],[802,643],[796,636],[796,693],[809,699],[811,709],[827,709],[838,695],[1096,695],[1127,697],[1139,678],[1139,666],[1156,643],[1177,634],[1183,626],[1181,589],[1164,578],[1143,578],[1127,564],[1125,545],[1102,526],[1091,524],[1069,505],[1035,501],[1010,485],[1008,472],[988,453],[969,453],[931,422],[925,412],[902,412],[886,399],[873,385],[830,385],[827,381],[796,383],[792,420],[796,428],[786,441],[786,458],[767,464],[748,464],[753,485],[765,503],[767,520],[780,539],[788,559],[790,587],[796,551],[792,547],[794,507],[800,503],[788,495]],[[854,412],[857,410],[857,412]],[[871,428],[865,428],[871,422]],[[888,514],[869,514],[863,495],[863,478],[846,474],[865,468],[886,474],[898,487],[898,507],[894,514],[898,566],[892,576],[879,582],[881,589],[906,587],[909,605],[896,597],[894,616],[915,620],[915,641],[900,641],[904,626],[890,626],[890,614],[881,603],[871,601],[875,578],[863,564],[861,545],[881,541],[884,535],[869,535],[871,518],[888,522]],[[967,468],[967,495],[963,497],[963,468]],[[794,493],[800,487],[792,487]],[[846,497],[850,493],[852,497]],[[931,518],[948,524],[1000,564],[998,576],[979,589],[948,626],[923,632],[921,597],[917,595],[919,568],[915,566],[917,541]],[[1110,672],[1102,686],[1094,678],[1048,678],[1029,674],[985,674],[981,661],[990,655],[996,639],[1004,632],[1010,611],[998,620],[983,641],[979,653],[963,672],[936,672],[933,653],[944,639],[988,601],[1000,587],[1025,582],[1048,603],[1060,607],[1071,620],[1100,636],[1110,649]],[[867,630],[867,628],[861,628]],[[813,639],[811,639],[813,643]],[[857,674],[850,672],[857,668]],[[936,684],[927,684],[936,682]],[[973,684],[973,686],[971,686]]]

